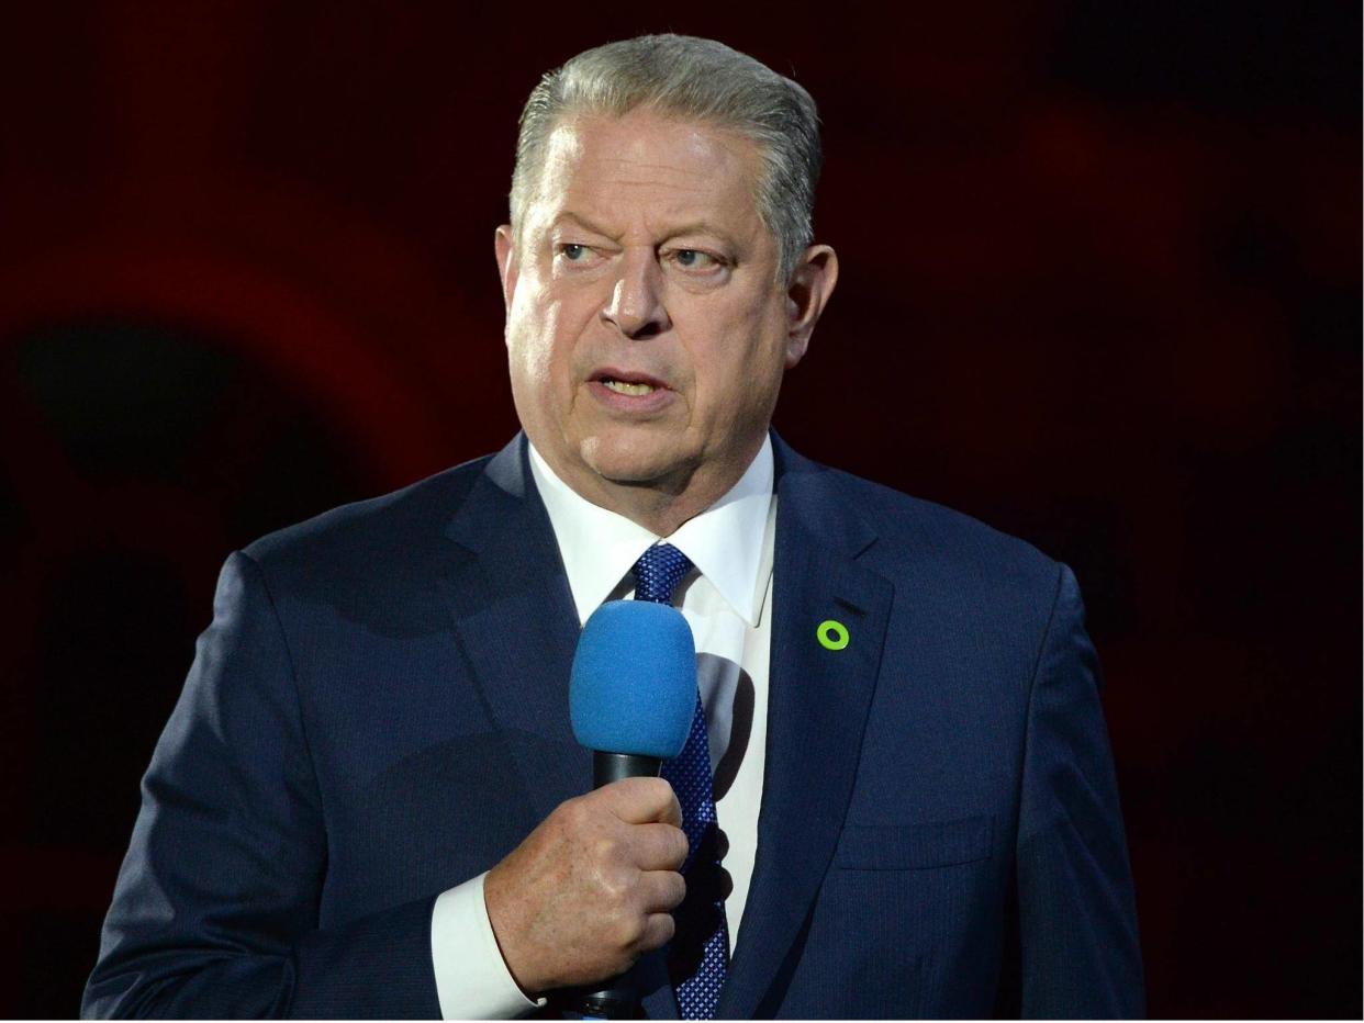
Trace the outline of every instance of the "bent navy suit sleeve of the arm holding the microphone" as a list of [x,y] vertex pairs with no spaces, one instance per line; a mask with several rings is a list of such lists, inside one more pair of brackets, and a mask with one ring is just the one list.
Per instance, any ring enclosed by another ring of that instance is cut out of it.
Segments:
[[318,928],[321,792],[261,569],[233,554],[142,782],[85,1016],[439,1018],[431,899]]

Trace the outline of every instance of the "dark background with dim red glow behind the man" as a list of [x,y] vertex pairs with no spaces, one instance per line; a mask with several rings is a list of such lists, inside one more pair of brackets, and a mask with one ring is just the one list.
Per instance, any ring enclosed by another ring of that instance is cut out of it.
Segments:
[[222,558],[513,432],[521,102],[674,29],[824,116],[783,435],[1079,574],[1153,1015],[1360,1016],[1357,5],[719,7],[0,15],[0,1013],[78,1008]]

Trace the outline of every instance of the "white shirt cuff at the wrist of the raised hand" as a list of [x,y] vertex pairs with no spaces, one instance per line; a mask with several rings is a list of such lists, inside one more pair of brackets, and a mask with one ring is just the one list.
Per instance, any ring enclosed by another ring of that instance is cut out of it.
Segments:
[[544,1005],[525,997],[492,934],[483,878],[442,892],[431,911],[431,960],[442,1019],[514,1019]]

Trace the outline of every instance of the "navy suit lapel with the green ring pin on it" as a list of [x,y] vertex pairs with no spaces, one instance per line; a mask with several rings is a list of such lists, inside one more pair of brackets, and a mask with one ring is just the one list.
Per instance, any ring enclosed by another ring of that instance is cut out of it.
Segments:
[[[874,533],[835,475],[775,439],[777,528],[762,807],[743,928],[717,1018],[771,1011],[787,960],[833,855],[889,619],[892,585],[855,563]],[[847,629],[828,649],[817,626]]]

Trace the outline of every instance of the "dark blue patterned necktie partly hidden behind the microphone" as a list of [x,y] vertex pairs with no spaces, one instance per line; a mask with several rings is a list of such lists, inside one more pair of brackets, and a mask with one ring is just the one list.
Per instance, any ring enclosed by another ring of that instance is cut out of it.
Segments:
[[[655,544],[634,563],[634,599],[671,604],[672,591],[692,570],[692,561],[672,544]],[[711,742],[705,734],[705,708],[697,693],[696,715],[686,746],[663,764],[682,803],[682,831],[689,843],[682,865],[686,899],[674,910],[677,933],[668,948],[668,974],[678,996],[682,1019],[715,1019],[720,985],[730,963],[730,926],[724,918],[720,857],[711,790]]]

